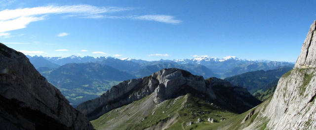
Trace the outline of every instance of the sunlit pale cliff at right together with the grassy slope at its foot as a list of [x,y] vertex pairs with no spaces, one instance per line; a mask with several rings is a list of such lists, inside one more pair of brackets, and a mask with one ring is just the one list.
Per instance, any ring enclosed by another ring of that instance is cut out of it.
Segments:
[[295,67],[278,81],[270,99],[228,120],[221,130],[316,130],[316,21]]

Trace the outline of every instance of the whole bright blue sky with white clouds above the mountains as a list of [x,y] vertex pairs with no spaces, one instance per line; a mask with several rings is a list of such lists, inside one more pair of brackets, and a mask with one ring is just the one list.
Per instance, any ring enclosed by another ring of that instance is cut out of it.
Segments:
[[29,55],[296,61],[316,0],[0,0],[0,42]]

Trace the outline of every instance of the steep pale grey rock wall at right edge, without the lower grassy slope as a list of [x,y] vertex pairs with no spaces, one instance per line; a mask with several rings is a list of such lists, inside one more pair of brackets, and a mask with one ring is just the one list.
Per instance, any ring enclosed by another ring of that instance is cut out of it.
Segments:
[[284,74],[264,116],[267,128],[314,130],[316,128],[316,21],[302,46],[295,68]]

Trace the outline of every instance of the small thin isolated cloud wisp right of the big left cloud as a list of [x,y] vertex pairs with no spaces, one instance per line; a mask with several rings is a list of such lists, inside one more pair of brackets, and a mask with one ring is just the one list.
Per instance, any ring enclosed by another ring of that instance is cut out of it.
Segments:
[[142,15],[142,16],[133,16],[132,19],[137,20],[149,20],[149,21],[157,21],[162,23],[170,23],[170,24],[178,24],[181,23],[181,20],[174,19],[174,16],[170,15]]

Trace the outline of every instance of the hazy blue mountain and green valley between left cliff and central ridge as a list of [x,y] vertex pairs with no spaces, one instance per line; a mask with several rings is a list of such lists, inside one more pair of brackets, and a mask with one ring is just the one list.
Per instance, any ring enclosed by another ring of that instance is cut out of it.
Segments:
[[100,96],[121,81],[136,78],[98,63],[69,63],[41,73],[61,90],[73,106]]

